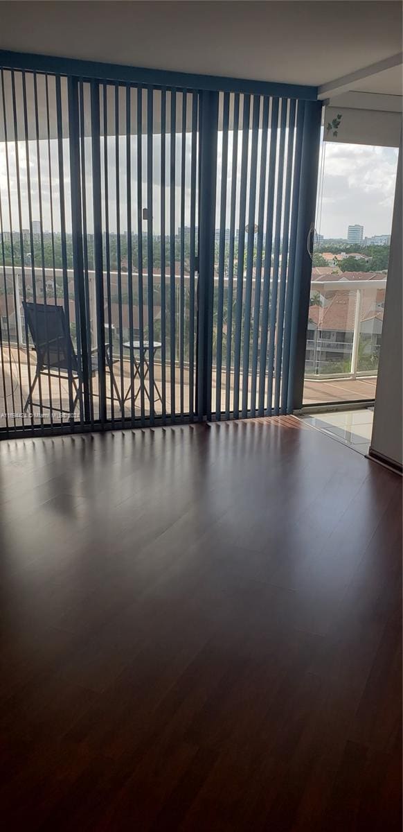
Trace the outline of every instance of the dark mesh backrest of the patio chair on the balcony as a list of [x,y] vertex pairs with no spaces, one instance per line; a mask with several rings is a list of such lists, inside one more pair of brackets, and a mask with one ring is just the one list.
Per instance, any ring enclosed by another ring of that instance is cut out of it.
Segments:
[[22,302],[37,353],[38,369],[69,369],[78,372],[78,362],[62,306]]

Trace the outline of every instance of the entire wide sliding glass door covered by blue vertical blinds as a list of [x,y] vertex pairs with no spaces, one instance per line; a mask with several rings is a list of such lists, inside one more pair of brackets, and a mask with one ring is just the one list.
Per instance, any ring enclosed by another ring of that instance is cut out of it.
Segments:
[[1,435],[292,410],[319,116],[2,70]]

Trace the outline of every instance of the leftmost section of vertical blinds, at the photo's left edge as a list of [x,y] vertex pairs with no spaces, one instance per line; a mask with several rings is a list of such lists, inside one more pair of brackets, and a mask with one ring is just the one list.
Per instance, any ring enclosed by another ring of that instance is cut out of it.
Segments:
[[[0,430],[7,435],[17,428],[24,433],[45,424],[52,428],[55,419],[68,420],[76,399],[72,356],[61,353],[59,341],[55,346],[51,316],[52,308],[62,304],[66,326],[71,337],[77,332],[80,351],[71,235],[66,235],[66,228],[71,228],[68,135],[66,78],[2,70]],[[43,330],[45,360],[55,365],[52,375],[37,375],[37,353],[24,311],[27,303],[32,304],[32,323]],[[43,321],[39,304],[49,310]],[[36,406],[26,408],[35,381]],[[81,396],[76,404],[74,418],[82,423]]]

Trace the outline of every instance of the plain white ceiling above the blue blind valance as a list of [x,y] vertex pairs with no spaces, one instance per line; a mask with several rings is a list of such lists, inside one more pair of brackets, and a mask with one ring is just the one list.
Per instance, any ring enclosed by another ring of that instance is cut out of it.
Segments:
[[0,48],[320,86],[400,52],[402,6],[400,0],[2,0]]

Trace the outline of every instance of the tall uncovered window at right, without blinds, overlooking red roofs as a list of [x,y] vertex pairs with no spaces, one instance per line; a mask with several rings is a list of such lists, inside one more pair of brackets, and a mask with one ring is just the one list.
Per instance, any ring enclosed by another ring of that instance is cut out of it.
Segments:
[[322,142],[304,405],[375,399],[397,156]]

